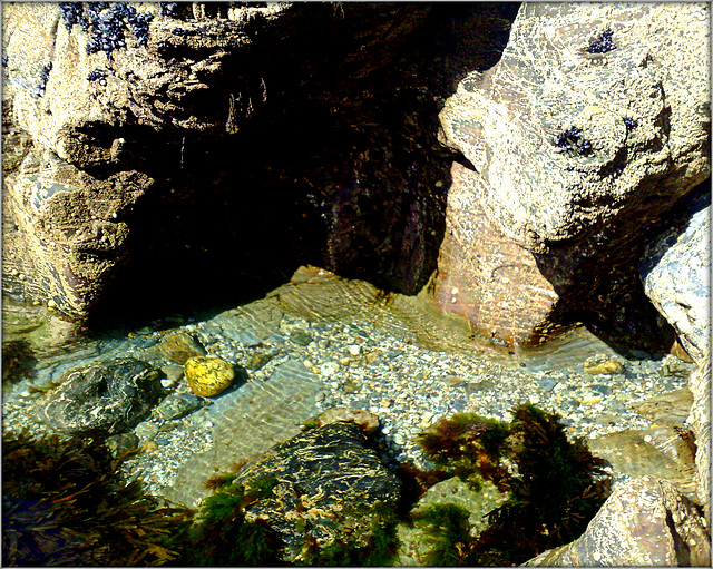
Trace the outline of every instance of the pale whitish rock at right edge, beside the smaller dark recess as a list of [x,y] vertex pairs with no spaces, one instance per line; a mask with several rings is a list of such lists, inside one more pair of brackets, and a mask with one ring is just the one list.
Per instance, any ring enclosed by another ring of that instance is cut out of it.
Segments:
[[711,206],[691,215],[683,232],[673,227],[655,239],[641,275],[646,295],[702,361],[711,351]]

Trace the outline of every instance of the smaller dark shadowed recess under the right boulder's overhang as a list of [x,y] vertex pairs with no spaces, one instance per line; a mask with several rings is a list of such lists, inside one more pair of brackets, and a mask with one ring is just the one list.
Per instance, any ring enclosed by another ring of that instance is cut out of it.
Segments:
[[[646,216],[646,204],[639,204],[638,232],[622,230],[627,220],[615,217],[593,227],[576,244],[561,246],[549,255],[535,255],[539,271],[561,298],[553,320],[583,323],[627,357],[661,357],[668,353],[675,341],[674,328],[646,296],[639,267],[648,243],[671,228],[683,233],[691,217],[710,204],[709,177],[663,216]],[[627,210],[621,217],[631,215]]]

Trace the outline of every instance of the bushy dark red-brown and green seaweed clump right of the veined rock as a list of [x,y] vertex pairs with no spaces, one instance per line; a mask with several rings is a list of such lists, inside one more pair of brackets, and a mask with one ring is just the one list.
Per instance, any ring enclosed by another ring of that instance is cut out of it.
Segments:
[[514,408],[512,415],[508,424],[460,413],[420,435],[424,453],[437,464],[470,483],[480,473],[509,492],[475,539],[465,540],[465,526],[447,512],[450,518],[431,552],[437,565],[522,563],[579,537],[608,497],[605,462],[582,439],[567,439],[559,415],[529,403]]

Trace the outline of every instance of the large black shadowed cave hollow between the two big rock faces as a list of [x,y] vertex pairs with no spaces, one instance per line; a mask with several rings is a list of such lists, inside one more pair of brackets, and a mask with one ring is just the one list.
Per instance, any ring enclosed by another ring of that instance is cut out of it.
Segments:
[[235,134],[121,133],[124,167],[156,183],[126,214],[128,262],[90,327],[205,316],[307,263],[406,294],[426,284],[450,166],[465,160],[438,143],[438,114],[499,60],[519,3],[383,3],[383,18],[361,2],[329,18],[303,6],[309,30],[265,35],[212,87],[225,95],[216,117],[231,95],[257,102]]

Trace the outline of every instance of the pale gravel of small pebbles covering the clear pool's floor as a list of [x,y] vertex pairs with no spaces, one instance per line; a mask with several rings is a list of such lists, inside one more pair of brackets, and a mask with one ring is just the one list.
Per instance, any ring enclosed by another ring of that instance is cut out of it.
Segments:
[[[208,353],[236,365],[244,366],[255,351],[216,335],[206,323],[182,328],[199,337]],[[559,413],[569,436],[590,439],[625,429],[648,429],[652,422],[632,411],[629,404],[686,385],[684,376],[660,373],[674,356],[658,362],[628,361],[603,350],[599,360],[614,359],[624,372],[592,375],[584,371],[584,362],[553,371],[530,371],[467,354],[432,352],[365,323],[310,323],[285,315],[281,333],[284,341],[260,346],[270,360],[258,370],[248,370],[250,381],[267,380],[289,359],[302,362],[323,382],[318,395],[320,409],[348,406],[377,414],[388,458],[410,460],[420,467],[428,467],[428,462],[416,444],[417,434],[456,412],[507,421],[512,406],[529,401]],[[143,349],[160,337],[159,332],[149,332],[128,342],[108,343],[105,350],[88,351],[91,355],[87,360],[68,355],[71,365],[40,365],[38,375],[45,381],[57,380],[67,367],[114,352],[140,356]],[[50,369],[52,373],[47,372]],[[35,385],[41,383],[36,381]],[[30,385],[23,381],[6,391],[3,429],[27,428],[40,435],[47,429],[35,416],[37,398],[29,393]],[[189,393],[185,380],[173,391]],[[170,421],[154,414],[135,430],[141,452],[121,467],[126,477],[140,478],[150,493],[159,493],[173,483],[182,463],[212,447],[213,425],[208,406]]]

